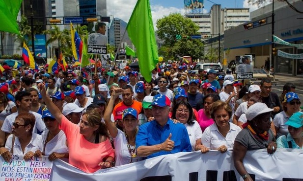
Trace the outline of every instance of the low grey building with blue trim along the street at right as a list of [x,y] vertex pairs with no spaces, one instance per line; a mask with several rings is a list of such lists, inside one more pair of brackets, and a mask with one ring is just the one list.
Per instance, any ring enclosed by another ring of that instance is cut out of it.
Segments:
[[[290,3],[294,7],[302,7],[301,0],[291,0]],[[265,60],[270,59],[276,73],[302,74],[302,59],[283,58],[277,54],[271,57],[272,9],[272,3],[259,8],[250,13],[252,19],[250,22],[224,31],[224,49],[228,51],[225,53],[227,62],[235,60],[236,56],[252,54],[254,67],[263,67]],[[274,13],[274,35],[289,43],[303,44],[302,14],[293,10],[286,2],[276,0]],[[290,54],[303,53],[303,49],[289,45],[275,44],[275,48],[275,51],[281,50]]]

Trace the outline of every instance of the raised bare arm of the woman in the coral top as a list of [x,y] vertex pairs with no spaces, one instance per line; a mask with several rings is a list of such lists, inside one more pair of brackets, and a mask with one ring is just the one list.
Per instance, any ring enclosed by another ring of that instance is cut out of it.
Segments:
[[61,124],[62,113],[59,108],[56,107],[56,105],[52,102],[52,100],[46,95],[45,85],[43,83],[40,83],[38,85],[38,88],[40,89],[40,93],[45,102],[46,107],[48,108],[50,113],[55,117],[58,123]]

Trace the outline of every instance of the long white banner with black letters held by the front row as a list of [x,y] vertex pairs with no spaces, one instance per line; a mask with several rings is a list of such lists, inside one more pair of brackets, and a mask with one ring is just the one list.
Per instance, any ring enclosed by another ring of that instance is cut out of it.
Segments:
[[[232,152],[177,153],[86,174],[56,160],[51,181],[243,181]],[[244,165],[255,181],[303,181],[303,150],[248,151]]]

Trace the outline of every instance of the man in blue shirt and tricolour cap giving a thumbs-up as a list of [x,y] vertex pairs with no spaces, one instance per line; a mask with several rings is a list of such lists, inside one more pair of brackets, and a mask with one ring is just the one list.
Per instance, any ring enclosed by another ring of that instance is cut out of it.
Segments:
[[155,120],[139,127],[136,137],[138,157],[153,158],[160,155],[192,150],[188,132],[183,124],[174,124],[168,117],[170,100],[163,94],[153,98],[152,113]]

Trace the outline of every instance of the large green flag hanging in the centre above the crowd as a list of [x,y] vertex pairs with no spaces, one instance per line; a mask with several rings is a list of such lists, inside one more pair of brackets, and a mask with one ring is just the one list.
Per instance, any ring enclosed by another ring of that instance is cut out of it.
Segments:
[[141,75],[150,82],[151,71],[158,63],[158,49],[149,0],[137,1],[126,29],[137,49]]

